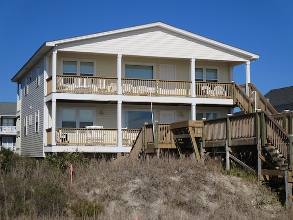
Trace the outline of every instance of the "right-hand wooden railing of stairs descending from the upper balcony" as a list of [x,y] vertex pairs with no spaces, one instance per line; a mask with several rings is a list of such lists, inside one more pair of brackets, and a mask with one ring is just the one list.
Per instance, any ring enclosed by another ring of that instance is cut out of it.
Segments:
[[[243,87],[244,85],[240,85],[240,87]],[[268,99],[265,98],[262,93],[256,88],[256,86],[250,82],[248,83],[248,91],[249,94],[252,93],[252,91],[256,91],[257,94],[257,108],[261,109],[262,111],[269,112],[270,115],[276,115],[278,114],[277,110],[269,103]],[[254,103],[252,103],[253,106],[255,106]]]

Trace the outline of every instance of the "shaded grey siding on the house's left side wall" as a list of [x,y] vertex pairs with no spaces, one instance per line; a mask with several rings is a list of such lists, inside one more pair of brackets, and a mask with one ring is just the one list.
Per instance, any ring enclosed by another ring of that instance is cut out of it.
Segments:
[[[39,66],[39,86],[36,87],[36,67]],[[26,77],[27,95],[24,95],[24,78],[22,79],[22,110],[21,110],[21,154],[30,157],[43,157],[43,129],[44,129],[44,60],[28,70]],[[35,132],[35,113],[39,111],[39,132]],[[24,118],[32,117],[31,125],[26,128],[24,136]]]

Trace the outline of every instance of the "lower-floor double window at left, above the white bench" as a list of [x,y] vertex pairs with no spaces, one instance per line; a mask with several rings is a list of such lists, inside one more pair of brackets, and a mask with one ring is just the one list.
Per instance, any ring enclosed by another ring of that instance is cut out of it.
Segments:
[[61,109],[61,126],[83,128],[94,124],[94,109]]

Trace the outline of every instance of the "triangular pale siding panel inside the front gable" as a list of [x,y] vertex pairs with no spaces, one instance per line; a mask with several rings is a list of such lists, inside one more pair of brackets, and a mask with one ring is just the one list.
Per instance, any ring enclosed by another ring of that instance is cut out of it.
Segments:
[[60,44],[58,50],[208,60],[249,60],[249,57],[160,27]]

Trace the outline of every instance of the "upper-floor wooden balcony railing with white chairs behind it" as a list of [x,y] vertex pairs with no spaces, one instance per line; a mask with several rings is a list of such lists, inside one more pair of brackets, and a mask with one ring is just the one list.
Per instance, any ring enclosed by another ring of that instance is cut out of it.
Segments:
[[[95,76],[57,75],[56,90],[60,93],[118,94],[118,79]],[[48,94],[52,91],[47,80]],[[156,79],[122,79],[122,94],[133,96],[191,97],[191,81]],[[195,82],[195,96],[200,98],[232,98],[232,83]]]

